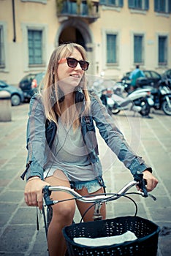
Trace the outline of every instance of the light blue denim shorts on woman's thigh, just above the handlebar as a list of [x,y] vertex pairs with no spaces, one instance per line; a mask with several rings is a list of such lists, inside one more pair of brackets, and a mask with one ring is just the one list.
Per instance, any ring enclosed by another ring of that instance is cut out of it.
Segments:
[[102,177],[98,177],[92,181],[69,181],[69,183],[71,184],[72,189],[80,190],[83,189],[83,187],[86,187],[89,194],[96,192],[101,187],[105,188]]

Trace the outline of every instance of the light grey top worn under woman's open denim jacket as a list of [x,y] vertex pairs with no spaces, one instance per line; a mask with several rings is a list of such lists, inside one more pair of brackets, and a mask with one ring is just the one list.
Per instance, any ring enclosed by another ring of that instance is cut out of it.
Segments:
[[91,181],[96,178],[87,157],[80,127],[76,130],[72,126],[66,128],[59,119],[51,153],[44,178],[53,176],[56,169],[63,170],[69,181]]

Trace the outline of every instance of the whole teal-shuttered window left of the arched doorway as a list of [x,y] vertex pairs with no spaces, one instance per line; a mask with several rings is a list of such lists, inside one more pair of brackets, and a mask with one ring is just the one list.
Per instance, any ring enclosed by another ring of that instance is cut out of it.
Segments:
[[28,64],[42,64],[42,31],[28,29]]

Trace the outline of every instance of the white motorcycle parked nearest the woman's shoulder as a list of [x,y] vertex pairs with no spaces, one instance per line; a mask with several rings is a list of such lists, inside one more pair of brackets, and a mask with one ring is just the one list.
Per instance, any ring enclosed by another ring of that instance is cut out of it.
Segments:
[[137,91],[133,91],[126,97],[121,97],[122,93],[120,95],[114,93],[116,90],[118,90],[117,86],[114,89],[102,91],[101,100],[110,114],[118,114],[121,110],[132,110],[142,116],[149,115],[153,105],[149,92],[138,91],[137,93]]

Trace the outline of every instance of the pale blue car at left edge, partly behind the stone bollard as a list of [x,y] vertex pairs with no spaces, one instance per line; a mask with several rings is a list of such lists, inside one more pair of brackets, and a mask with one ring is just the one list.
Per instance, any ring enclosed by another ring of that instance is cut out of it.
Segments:
[[12,106],[18,106],[21,102],[24,102],[23,91],[21,91],[21,89],[16,88],[15,86],[10,86],[3,80],[0,80],[0,91],[8,91],[9,94],[11,94]]

